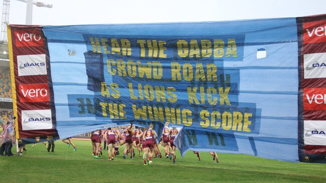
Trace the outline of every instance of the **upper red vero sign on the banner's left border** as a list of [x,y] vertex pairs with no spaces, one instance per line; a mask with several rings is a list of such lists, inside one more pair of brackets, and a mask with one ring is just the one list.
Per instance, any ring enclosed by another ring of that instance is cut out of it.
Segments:
[[42,46],[43,37],[39,29],[15,31],[16,46]]

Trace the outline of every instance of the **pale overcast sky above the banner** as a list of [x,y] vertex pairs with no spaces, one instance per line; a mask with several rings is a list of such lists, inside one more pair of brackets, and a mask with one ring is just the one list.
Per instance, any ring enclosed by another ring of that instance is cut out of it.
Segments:
[[[33,24],[223,21],[326,13],[326,0],[40,0]],[[1,3],[0,7],[2,8]],[[10,24],[25,24],[26,3],[11,0]]]

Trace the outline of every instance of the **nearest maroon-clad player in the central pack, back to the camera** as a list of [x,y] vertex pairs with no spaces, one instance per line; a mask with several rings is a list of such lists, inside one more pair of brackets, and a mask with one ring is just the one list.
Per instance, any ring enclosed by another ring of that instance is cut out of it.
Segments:
[[144,159],[144,165],[146,165],[146,159],[147,159],[147,154],[148,154],[148,159],[147,159],[147,164],[150,165],[152,163],[151,157],[154,152],[154,144],[153,142],[157,138],[157,133],[155,130],[153,130],[153,123],[149,124],[149,128],[144,131],[142,135],[142,140],[145,141],[145,147],[143,147],[144,154],[143,154],[143,159]]

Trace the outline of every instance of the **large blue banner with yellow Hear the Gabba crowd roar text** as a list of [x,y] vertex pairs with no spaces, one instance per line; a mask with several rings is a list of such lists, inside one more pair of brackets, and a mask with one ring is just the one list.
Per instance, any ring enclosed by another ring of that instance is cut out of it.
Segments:
[[161,134],[170,122],[182,155],[298,161],[297,26],[274,18],[37,27],[54,138],[129,122],[153,122]]

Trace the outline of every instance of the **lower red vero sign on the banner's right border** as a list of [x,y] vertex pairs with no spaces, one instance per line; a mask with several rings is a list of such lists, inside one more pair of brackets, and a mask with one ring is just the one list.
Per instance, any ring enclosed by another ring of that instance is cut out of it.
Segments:
[[304,88],[303,109],[326,110],[326,88]]

